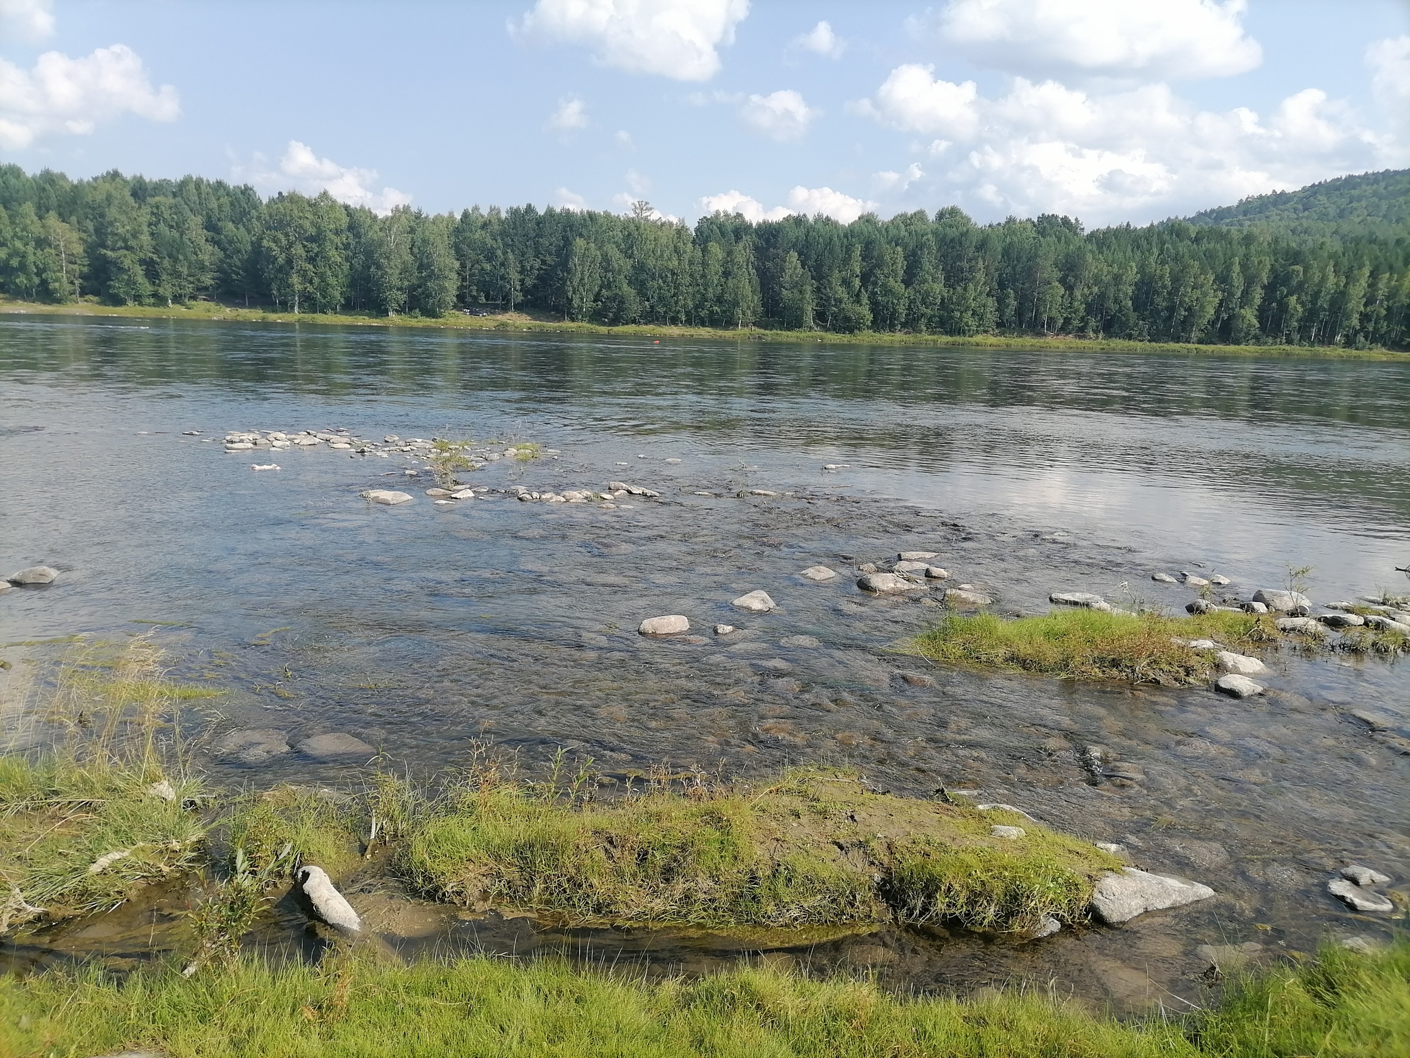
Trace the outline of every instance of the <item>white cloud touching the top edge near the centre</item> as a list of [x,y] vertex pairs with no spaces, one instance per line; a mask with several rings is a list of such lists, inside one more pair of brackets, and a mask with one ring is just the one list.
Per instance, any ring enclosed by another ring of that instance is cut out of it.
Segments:
[[587,45],[627,73],[709,80],[747,14],[749,0],[539,0],[510,32]]

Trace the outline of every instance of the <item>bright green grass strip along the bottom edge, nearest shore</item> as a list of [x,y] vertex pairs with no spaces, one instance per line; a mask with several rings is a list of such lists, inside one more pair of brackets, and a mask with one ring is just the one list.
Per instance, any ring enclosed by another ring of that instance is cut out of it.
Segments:
[[647,983],[561,962],[321,966],[244,959],[183,979],[0,980],[16,1058],[161,1048],[176,1058],[1373,1058],[1410,1054],[1410,944],[1238,985],[1213,1010],[1121,1024],[1045,995],[900,999],[871,982],[739,969]]

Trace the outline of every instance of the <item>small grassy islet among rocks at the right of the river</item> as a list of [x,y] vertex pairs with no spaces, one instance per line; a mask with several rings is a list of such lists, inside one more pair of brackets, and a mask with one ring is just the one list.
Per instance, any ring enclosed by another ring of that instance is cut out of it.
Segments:
[[1345,629],[1344,635],[1325,640],[1290,636],[1277,629],[1273,615],[1266,614],[1218,611],[1172,618],[1094,609],[1055,609],[1024,618],[952,614],[916,636],[914,646],[933,662],[1177,686],[1204,683],[1214,674],[1217,652],[1189,645],[1200,639],[1255,656],[1277,643],[1358,653],[1397,653],[1407,647],[1406,638],[1399,633],[1362,628]]

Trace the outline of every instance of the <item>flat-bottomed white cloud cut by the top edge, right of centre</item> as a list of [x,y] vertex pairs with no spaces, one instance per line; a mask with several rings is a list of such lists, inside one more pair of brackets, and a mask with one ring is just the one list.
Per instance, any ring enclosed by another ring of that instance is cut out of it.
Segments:
[[1029,76],[1221,78],[1262,62],[1245,0],[949,0],[912,25]]

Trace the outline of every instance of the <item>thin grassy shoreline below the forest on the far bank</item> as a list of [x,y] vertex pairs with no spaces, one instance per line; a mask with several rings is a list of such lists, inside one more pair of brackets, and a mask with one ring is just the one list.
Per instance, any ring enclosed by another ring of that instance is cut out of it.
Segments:
[[265,309],[243,309],[213,302],[192,302],[173,308],[155,305],[99,305],[75,302],[68,305],[44,305],[38,302],[16,302],[0,299],[0,313],[34,313],[48,316],[111,316],[128,319],[179,319],[179,320],[238,320],[245,323],[302,323],[309,326],[338,324],[367,327],[439,327],[465,332],[537,332],[560,334],[603,334],[646,339],[713,339],[722,341],[799,341],[843,346],[914,346],[921,348],[1017,348],[1058,353],[1177,353],[1183,355],[1238,355],[1238,357],[1303,357],[1314,360],[1406,360],[1410,353],[1394,353],[1383,348],[1341,348],[1335,346],[1200,346],[1193,343],[1127,341],[1118,339],[1079,337],[1010,337],[998,334],[976,334],[971,337],[950,337],[948,334],[897,334],[863,332],[859,334],[835,334],[816,330],[722,330],[716,327],[671,327],[661,324],[632,323],[603,326],[596,323],[568,323],[547,319],[543,313],[522,312],[495,316],[464,316],[460,313],[439,319],[420,316],[374,316],[357,315],[312,315],[290,312],[268,312]]

